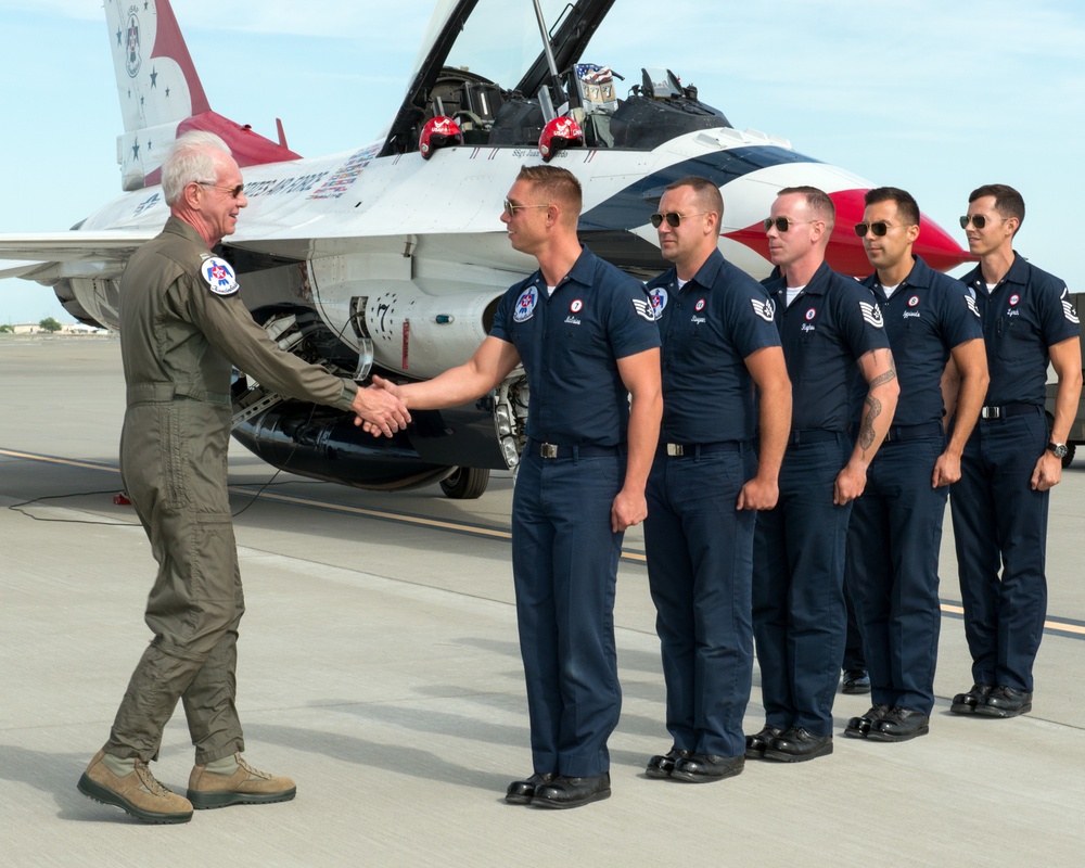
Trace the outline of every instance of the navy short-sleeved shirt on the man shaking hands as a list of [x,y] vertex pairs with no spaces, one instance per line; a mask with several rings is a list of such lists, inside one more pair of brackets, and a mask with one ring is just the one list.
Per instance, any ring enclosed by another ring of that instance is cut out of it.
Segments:
[[552,295],[541,271],[511,286],[489,333],[520,353],[531,387],[528,437],[625,443],[629,393],[617,359],[660,345],[644,284],[583,247]]

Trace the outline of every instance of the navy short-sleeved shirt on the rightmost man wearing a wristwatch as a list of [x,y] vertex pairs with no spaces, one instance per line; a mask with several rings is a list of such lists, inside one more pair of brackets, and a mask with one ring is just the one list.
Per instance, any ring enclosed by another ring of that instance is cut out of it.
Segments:
[[1065,281],[1042,271],[1014,252],[1013,265],[987,292],[976,266],[961,279],[980,308],[992,406],[1035,404],[1047,395],[1048,347],[1077,337],[1081,324]]

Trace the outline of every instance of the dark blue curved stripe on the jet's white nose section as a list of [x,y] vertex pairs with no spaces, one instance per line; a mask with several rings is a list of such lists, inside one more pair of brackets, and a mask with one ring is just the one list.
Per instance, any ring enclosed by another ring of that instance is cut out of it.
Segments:
[[643,226],[648,222],[648,215],[659,205],[667,184],[689,175],[710,178],[716,182],[716,187],[723,187],[743,175],[769,166],[820,162],[822,161],[773,144],[710,151],[701,156],[675,163],[629,184],[591,210],[582,214],[578,228],[582,231],[598,231]]

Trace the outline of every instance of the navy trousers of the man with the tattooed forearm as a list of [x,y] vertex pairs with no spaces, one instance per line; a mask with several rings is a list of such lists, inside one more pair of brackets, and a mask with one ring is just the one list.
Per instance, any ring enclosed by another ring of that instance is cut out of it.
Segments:
[[757,513],[753,631],[765,722],[832,733],[847,615],[844,549],[852,505],[832,502],[852,451],[835,441],[791,446],[780,469],[780,502]]

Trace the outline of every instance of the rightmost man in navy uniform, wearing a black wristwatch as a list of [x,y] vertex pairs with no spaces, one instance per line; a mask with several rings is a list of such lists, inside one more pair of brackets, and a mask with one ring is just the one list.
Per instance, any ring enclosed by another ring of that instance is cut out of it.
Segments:
[[[1013,250],[1021,194],[987,184],[968,202],[960,222],[980,264],[961,281],[980,309],[991,385],[949,495],[973,681],[950,711],[1014,717],[1032,710],[1047,616],[1048,501],[1081,397],[1081,324],[1065,282]],[[1050,432],[1048,363],[1059,381]]]

